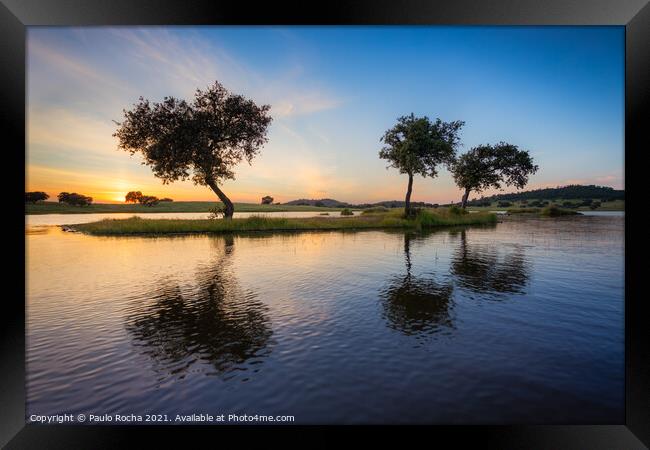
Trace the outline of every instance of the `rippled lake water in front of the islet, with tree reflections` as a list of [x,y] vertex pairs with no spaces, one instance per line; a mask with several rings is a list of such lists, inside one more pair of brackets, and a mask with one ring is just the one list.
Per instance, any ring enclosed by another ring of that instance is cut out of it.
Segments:
[[622,216],[432,233],[27,233],[27,414],[624,419]]

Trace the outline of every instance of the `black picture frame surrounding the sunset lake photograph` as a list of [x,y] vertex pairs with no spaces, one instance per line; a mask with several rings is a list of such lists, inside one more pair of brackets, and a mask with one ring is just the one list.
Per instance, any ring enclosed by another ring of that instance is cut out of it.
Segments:
[[[25,163],[25,36],[27,26],[80,25],[201,25],[201,24],[412,24],[412,25],[621,25],[625,26],[625,239],[632,242],[631,224],[639,220],[633,172],[639,172],[643,150],[650,148],[644,130],[650,97],[650,5],[647,0],[357,0],[318,2],[244,2],[197,0],[0,0],[0,108],[5,135],[2,143],[5,169],[16,176],[11,196],[5,201],[15,208],[11,233],[24,239]],[[638,174],[637,174],[638,176]],[[22,183],[22,187],[20,187]],[[19,219],[19,214],[23,217]],[[632,216],[630,216],[632,214]],[[19,224],[19,220],[21,223]],[[15,227],[15,228],[14,228]],[[9,239],[13,243],[13,239]],[[128,447],[132,439],[146,433],[166,442],[192,433],[193,439],[206,434],[246,433],[259,436],[251,427],[108,427],[45,426],[25,424],[25,277],[24,240],[16,238],[14,252],[5,261],[7,285],[16,285],[15,294],[6,294],[2,306],[0,350],[0,444],[7,448],[115,448]],[[638,251],[638,249],[637,249]],[[454,445],[486,444],[498,448],[647,448],[650,445],[650,369],[648,332],[645,325],[645,295],[640,287],[644,264],[637,263],[633,249],[625,255],[625,339],[626,339],[626,418],[624,424],[594,426],[435,426],[409,427],[422,437],[451,438]],[[264,427],[262,427],[264,428]],[[290,433],[296,427],[278,427]],[[277,430],[278,428],[273,428]],[[331,428],[311,427],[328,437]],[[373,428],[374,434],[394,428]],[[269,427],[266,430],[270,430]],[[305,427],[300,428],[300,431]],[[198,437],[197,437],[198,435]]]

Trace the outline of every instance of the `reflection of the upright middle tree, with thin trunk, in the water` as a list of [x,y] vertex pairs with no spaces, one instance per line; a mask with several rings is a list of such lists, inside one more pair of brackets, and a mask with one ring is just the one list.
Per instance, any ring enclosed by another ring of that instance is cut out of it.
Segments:
[[411,243],[421,238],[404,234],[406,273],[394,276],[380,296],[383,315],[390,328],[406,335],[426,338],[453,327],[450,317],[451,282],[440,282],[433,275],[412,273]]

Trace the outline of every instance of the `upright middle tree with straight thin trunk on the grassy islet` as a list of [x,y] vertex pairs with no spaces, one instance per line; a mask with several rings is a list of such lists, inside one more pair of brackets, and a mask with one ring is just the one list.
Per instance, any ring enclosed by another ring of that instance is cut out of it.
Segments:
[[407,217],[412,215],[413,177],[435,178],[439,165],[449,166],[453,162],[460,142],[458,134],[464,124],[462,121],[443,122],[440,119],[431,122],[426,116],[415,117],[411,113],[410,116],[398,118],[397,124],[381,138],[385,146],[380,150],[379,157],[389,161],[388,167],[398,169],[409,177],[404,205]]

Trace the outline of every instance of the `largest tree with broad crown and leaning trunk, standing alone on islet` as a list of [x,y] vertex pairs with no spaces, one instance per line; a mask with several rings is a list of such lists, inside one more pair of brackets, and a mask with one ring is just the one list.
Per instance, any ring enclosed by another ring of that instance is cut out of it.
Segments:
[[234,206],[219,188],[234,180],[234,167],[249,164],[267,142],[270,106],[231,94],[219,82],[197,89],[187,102],[165,97],[150,103],[140,97],[124,120],[115,122],[119,148],[141,153],[163,184],[192,178],[208,186],[224,204],[224,217],[232,218]]

